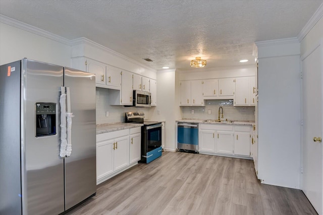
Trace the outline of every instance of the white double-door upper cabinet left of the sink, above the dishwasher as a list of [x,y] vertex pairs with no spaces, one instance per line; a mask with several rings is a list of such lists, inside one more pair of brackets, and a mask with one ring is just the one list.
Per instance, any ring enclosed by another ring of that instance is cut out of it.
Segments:
[[202,81],[181,81],[181,106],[203,106]]

